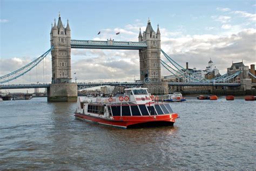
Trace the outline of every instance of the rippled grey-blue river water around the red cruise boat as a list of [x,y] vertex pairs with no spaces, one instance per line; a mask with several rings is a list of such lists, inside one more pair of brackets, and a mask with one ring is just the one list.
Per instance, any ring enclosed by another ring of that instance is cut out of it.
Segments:
[[117,129],[75,119],[76,103],[0,103],[0,169],[256,169],[256,101],[172,103],[173,127]]

